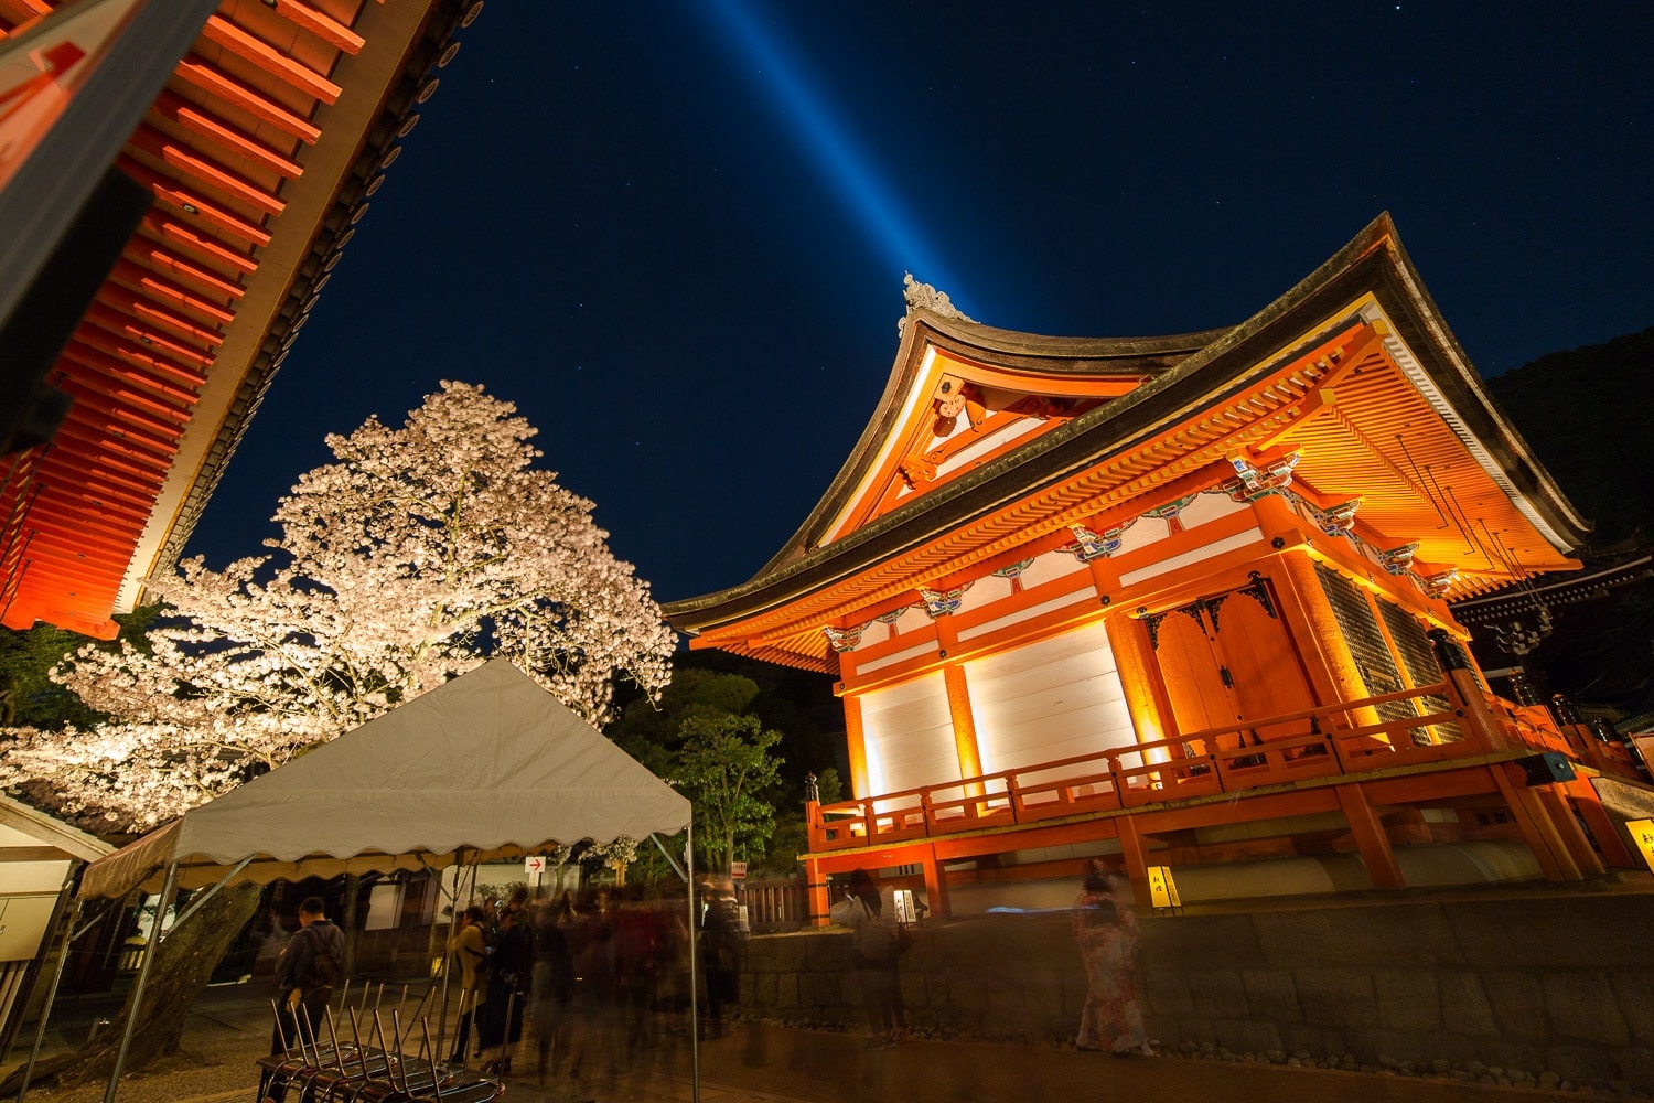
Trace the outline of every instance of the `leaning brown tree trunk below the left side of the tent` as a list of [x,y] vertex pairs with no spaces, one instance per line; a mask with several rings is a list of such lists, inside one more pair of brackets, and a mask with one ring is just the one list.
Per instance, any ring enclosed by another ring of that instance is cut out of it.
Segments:
[[[160,939],[144,987],[144,1009],[137,1017],[137,1030],[132,1032],[122,1072],[134,1072],[157,1057],[179,1050],[190,1004],[207,987],[230,943],[253,918],[258,896],[258,885],[222,888],[200,911]],[[132,999],[127,994],[127,1002],[114,1022],[99,1030],[83,1048],[38,1062],[30,1078],[30,1090],[106,1080],[114,1068],[121,1034],[131,1012]],[[0,1096],[17,1095],[22,1083],[23,1072],[18,1068],[0,1083]]]

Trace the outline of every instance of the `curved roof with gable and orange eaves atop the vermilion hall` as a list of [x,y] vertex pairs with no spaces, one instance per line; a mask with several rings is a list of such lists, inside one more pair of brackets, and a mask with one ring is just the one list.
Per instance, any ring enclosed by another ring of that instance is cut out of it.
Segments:
[[[953,443],[949,394],[992,442]],[[996,428],[1006,412],[1021,417]],[[794,537],[748,582],[665,610],[705,645],[830,670],[824,625],[958,585],[1128,501],[1140,513],[1168,488],[1232,480],[1236,458],[1290,453],[1295,493],[1320,509],[1360,499],[1370,542],[1416,542],[1421,572],[1457,572],[1449,597],[1578,566],[1588,523],[1381,215],[1231,329],[1070,339],[910,311],[867,430]]]

